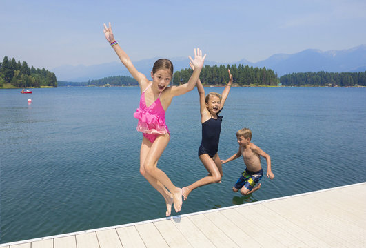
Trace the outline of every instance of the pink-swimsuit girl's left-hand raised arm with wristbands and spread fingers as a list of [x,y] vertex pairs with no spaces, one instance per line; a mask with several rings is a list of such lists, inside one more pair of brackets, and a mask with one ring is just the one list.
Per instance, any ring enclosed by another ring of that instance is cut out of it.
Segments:
[[130,57],[125,53],[125,51],[122,50],[122,48],[119,46],[119,44],[114,39],[114,35],[112,32],[112,28],[110,27],[110,23],[109,23],[109,27],[107,27],[104,24],[103,31],[104,31],[105,39],[107,39],[107,41],[112,45],[114,52],[116,52],[116,54],[119,56],[119,59],[121,59],[121,62],[123,63],[123,65],[125,65],[125,67],[128,69],[130,74],[134,77],[134,79],[136,79],[136,81],[139,82],[140,86],[147,85],[149,83],[149,81],[146,78],[146,76],[144,74],[140,73],[138,70],[136,70],[136,68],[132,64]]

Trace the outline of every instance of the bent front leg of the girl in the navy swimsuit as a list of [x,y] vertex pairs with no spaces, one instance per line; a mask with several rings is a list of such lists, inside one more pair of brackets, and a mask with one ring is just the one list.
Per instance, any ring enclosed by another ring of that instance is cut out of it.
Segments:
[[[217,154],[214,156],[214,159],[216,157],[218,157]],[[192,192],[193,189],[196,189],[198,187],[201,187],[203,185],[207,185],[210,183],[218,183],[221,180],[222,168],[221,168],[220,158],[218,158],[218,163],[220,163],[220,165],[217,165],[215,163],[216,160],[215,161],[212,160],[212,158],[210,158],[210,156],[208,156],[208,154],[202,154],[201,156],[199,156],[199,159],[201,159],[201,162],[203,163],[203,165],[205,165],[205,168],[207,169],[207,172],[209,172],[209,175],[212,175],[212,176],[205,176],[204,178],[197,180],[195,183],[192,183],[192,185],[183,187],[184,200],[187,200],[188,195],[190,194],[190,192]],[[221,173],[220,173],[220,170],[218,169],[218,167],[221,168]]]

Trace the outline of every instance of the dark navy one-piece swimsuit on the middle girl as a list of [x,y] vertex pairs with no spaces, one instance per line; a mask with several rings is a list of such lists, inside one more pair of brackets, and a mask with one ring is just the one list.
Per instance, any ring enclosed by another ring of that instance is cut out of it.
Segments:
[[217,116],[216,119],[210,118],[202,123],[202,141],[199,147],[199,156],[208,154],[213,158],[217,153],[222,121],[223,116]]

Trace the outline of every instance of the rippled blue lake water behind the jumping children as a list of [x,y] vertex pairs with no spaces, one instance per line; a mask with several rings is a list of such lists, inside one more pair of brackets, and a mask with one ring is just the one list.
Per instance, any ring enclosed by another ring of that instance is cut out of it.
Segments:
[[[139,87],[19,92],[0,90],[1,243],[165,216],[163,198],[139,174]],[[221,114],[219,156],[236,153],[236,131],[250,127],[275,178],[263,177],[250,196],[232,192],[245,168],[238,158],[179,214],[366,181],[366,88],[233,87]],[[196,90],[174,98],[166,120],[172,136],[158,165],[183,187],[207,175]]]

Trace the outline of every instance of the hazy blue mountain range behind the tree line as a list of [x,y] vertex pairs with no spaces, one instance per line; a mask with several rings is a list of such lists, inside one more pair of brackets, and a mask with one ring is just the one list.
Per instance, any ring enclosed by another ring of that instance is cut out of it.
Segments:
[[[159,58],[134,61],[134,66],[150,78],[152,65]],[[171,58],[174,72],[187,68],[189,59],[185,57]],[[274,54],[268,59],[252,63],[246,59],[232,63],[205,61],[205,65],[249,65],[267,68],[277,72],[278,76],[293,72],[364,72],[366,71],[366,45],[347,50],[329,50],[323,52],[316,49],[307,49],[295,54]],[[130,76],[121,62],[102,63],[99,65],[61,65],[51,70],[59,81],[83,82],[101,79],[107,76]]]

